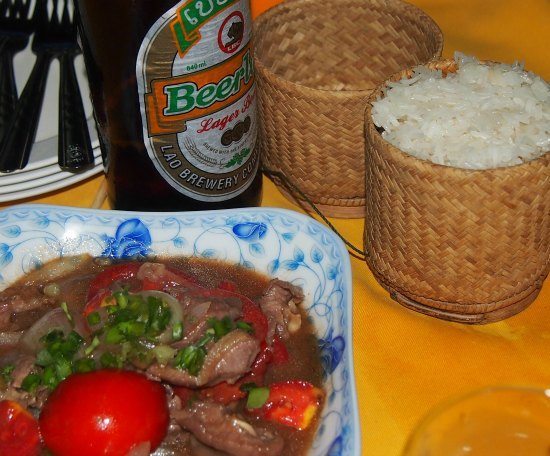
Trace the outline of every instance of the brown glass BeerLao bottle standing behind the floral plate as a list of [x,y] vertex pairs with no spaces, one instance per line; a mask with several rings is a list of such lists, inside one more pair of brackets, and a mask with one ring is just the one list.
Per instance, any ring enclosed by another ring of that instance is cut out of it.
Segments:
[[[112,207],[165,211],[259,205],[248,1],[76,3]],[[178,20],[188,21],[182,24],[185,39],[170,43]],[[198,41],[191,27],[199,32]],[[207,42],[208,36],[217,39]],[[136,66],[138,59],[143,68]],[[153,76],[141,80],[146,65]],[[163,85],[155,86],[158,81]],[[197,93],[191,95],[193,87]],[[152,99],[150,93],[160,95]],[[157,106],[161,102],[166,104]],[[189,161],[184,154],[191,154]]]

